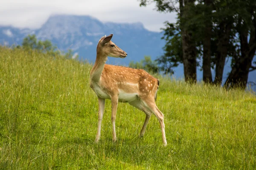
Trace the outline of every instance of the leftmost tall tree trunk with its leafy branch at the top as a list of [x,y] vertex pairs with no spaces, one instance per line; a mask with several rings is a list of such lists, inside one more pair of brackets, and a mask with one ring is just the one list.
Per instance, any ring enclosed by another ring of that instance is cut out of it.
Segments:
[[[197,53],[193,32],[189,27],[193,24],[187,23],[189,10],[193,8],[195,0],[179,0],[179,8],[175,7],[175,0],[140,0],[140,6],[146,6],[148,3],[156,2],[157,11],[173,12],[178,14],[178,21],[182,40],[182,62],[184,65],[184,76],[186,82],[196,82]],[[189,26],[187,26],[189,25]],[[178,59],[179,60],[179,59]]]

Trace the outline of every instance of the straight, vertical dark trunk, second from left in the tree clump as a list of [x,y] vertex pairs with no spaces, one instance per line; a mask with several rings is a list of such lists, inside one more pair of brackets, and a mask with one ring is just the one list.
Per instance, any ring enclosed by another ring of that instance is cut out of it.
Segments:
[[212,0],[204,0],[207,6],[207,20],[206,27],[204,29],[204,51],[203,51],[203,81],[205,83],[212,83],[212,71],[211,71],[211,36],[212,36],[212,21],[211,21],[211,10],[209,6]]

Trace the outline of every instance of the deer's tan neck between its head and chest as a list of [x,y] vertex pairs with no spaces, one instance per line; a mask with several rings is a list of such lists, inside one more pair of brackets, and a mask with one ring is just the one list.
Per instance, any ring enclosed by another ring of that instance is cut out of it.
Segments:
[[102,55],[97,52],[95,64],[93,65],[93,68],[90,72],[90,79],[93,82],[99,82],[107,59],[107,55]]

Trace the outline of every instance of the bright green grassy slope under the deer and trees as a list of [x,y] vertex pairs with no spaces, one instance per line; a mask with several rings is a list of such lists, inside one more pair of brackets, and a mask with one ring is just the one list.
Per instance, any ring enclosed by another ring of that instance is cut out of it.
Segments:
[[158,108],[167,146],[151,116],[119,103],[112,143],[111,102],[96,137],[92,65],[0,48],[0,169],[256,169],[256,96],[160,79]]

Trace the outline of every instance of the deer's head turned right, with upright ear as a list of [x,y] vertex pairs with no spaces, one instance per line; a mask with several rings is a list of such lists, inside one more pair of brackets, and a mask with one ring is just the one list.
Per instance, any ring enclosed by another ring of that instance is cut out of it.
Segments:
[[125,58],[127,56],[127,53],[125,51],[122,51],[121,48],[119,48],[115,43],[111,41],[112,37],[113,34],[101,37],[97,46],[97,53],[99,52],[109,57]]

